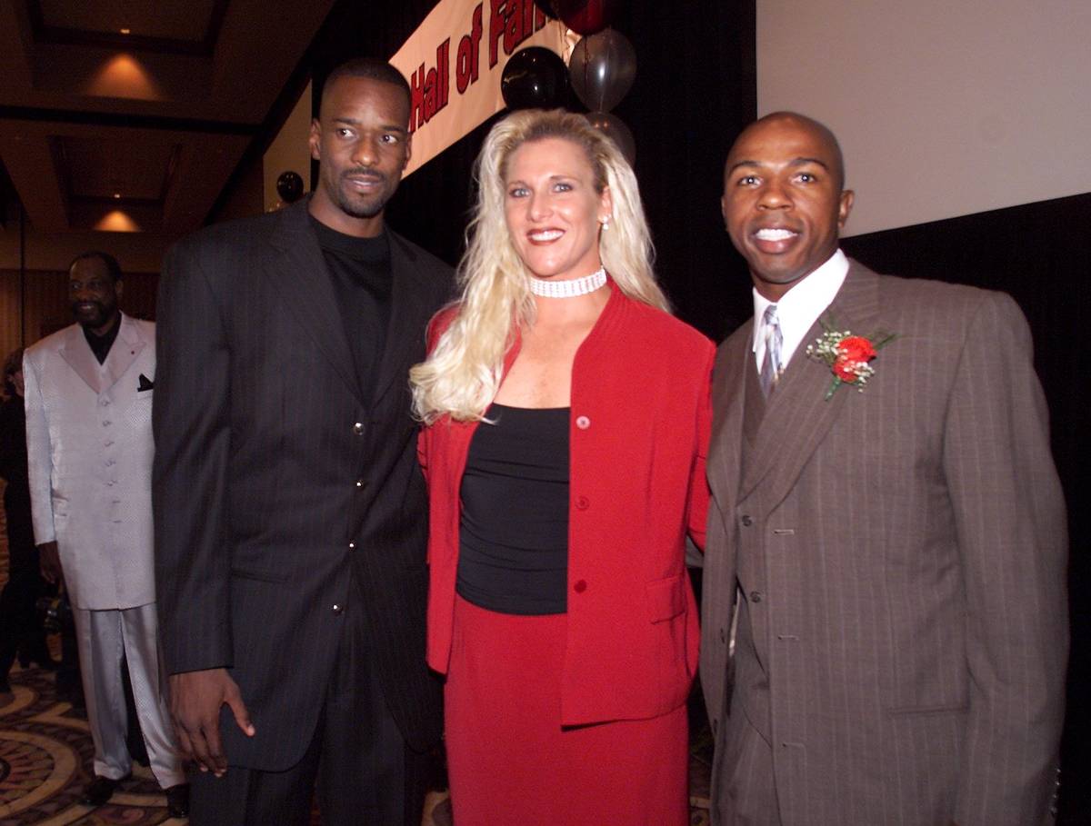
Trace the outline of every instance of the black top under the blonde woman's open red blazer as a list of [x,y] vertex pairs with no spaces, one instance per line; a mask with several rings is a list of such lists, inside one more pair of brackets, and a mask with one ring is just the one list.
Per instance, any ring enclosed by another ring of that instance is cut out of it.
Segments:
[[457,591],[502,614],[567,610],[568,408],[493,404],[463,475]]

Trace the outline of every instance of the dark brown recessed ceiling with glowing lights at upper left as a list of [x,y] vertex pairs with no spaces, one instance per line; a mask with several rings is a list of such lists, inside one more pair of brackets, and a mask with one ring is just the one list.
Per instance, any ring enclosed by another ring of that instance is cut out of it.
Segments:
[[41,232],[200,227],[333,5],[0,0],[0,199]]

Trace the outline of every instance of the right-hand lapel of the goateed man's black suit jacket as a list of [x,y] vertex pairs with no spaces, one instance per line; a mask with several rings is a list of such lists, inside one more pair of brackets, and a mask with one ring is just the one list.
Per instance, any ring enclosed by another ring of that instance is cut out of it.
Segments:
[[[395,380],[409,381],[409,368],[424,357],[428,318],[422,316],[424,296],[432,293],[428,276],[417,266],[417,256],[396,233],[391,239],[391,320],[386,344],[375,378],[372,404],[377,405]],[[427,312],[427,311],[424,311]]]

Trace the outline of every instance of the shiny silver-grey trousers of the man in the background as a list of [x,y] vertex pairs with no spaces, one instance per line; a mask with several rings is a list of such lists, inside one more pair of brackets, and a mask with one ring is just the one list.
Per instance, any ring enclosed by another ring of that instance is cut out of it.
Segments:
[[185,782],[170,721],[155,604],[120,610],[73,607],[72,615],[87,721],[95,741],[95,774],[117,780],[132,768],[125,745],[129,724],[121,675],[124,659],[152,774],[164,789]]

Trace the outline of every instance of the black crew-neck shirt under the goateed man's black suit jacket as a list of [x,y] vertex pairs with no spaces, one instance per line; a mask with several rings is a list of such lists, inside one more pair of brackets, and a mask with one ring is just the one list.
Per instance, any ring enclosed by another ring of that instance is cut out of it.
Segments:
[[391,241],[385,232],[375,238],[346,235],[314,216],[311,226],[329,270],[360,388],[368,391],[374,385],[391,320]]

